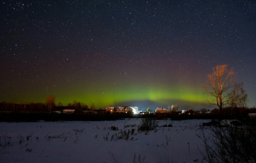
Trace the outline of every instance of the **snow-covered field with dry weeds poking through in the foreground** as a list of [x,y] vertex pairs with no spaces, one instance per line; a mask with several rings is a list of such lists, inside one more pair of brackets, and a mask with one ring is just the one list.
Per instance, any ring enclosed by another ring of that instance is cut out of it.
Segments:
[[[200,125],[210,120],[159,120],[157,131],[138,132],[141,119],[0,123],[1,163],[194,163],[202,156]],[[173,127],[161,127],[172,124]],[[113,127],[112,127],[113,126]],[[112,130],[111,130],[112,127]],[[114,131],[118,127],[117,131]],[[115,140],[124,132],[127,138]],[[115,134],[117,136],[115,136]],[[113,140],[111,141],[111,136]],[[107,140],[108,139],[108,140]],[[116,159],[116,161],[114,161]]]

